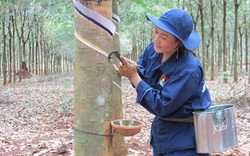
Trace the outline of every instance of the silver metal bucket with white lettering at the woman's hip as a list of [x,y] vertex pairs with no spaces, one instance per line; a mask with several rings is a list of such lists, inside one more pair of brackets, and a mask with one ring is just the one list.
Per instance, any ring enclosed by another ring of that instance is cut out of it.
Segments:
[[193,115],[197,153],[222,152],[238,145],[234,105],[212,106]]

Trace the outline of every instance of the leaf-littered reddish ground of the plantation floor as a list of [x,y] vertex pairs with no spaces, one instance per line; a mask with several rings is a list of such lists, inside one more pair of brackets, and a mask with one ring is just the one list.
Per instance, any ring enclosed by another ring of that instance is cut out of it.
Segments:
[[[208,85],[218,88],[215,82]],[[216,99],[222,93],[213,94]],[[148,139],[153,115],[134,102],[135,96],[135,90],[123,79],[124,118],[144,123],[139,134],[125,137],[129,156],[152,156]],[[71,74],[32,77],[20,84],[1,86],[0,155],[74,156],[73,97]],[[250,154],[249,103],[236,109],[239,146],[213,155]]]

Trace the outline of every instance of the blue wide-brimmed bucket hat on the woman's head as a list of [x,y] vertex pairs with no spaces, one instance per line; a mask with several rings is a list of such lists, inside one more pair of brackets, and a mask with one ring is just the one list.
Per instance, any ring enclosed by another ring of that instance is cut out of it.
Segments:
[[156,27],[177,37],[188,50],[195,50],[200,44],[200,37],[193,29],[193,20],[188,12],[172,9],[156,19],[149,14],[146,17]]

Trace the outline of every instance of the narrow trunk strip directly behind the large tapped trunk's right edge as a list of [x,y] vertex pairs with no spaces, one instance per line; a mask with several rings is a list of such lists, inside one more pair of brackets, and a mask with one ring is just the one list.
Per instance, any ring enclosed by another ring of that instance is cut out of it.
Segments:
[[[118,6],[117,6],[118,0],[112,0],[112,11],[113,11],[113,16],[112,16],[112,21],[116,26],[115,29],[115,34],[113,37],[113,49],[117,51],[120,50],[120,36],[119,36],[119,22],[120,18],[117,16],[118,15]],[[116,82],[121,86],[121,76],[113,71],[113,81]],[[118,88],[117,86],[112,86],[112,103],[116,106],[113,107],[114,112],[117,112],[114,114],[113,118],[114,119],[122,119],[123,118],[123,112],[122,112],[122,92],[121,89]],[[115,135],[113,137],[113,152],[114,156],[126,156],[127,155],[127,147],[125,145],[124,137],[120,135]]]

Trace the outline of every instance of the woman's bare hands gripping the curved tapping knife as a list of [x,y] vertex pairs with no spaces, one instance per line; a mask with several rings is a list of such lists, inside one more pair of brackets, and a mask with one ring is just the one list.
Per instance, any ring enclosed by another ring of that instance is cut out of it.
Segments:
[[141,78],[137,72],[138,71],[137,63],[123,56],[120,56],[120,59],[122,63],[120,62],[118,67],[115,64],[113,64],[115,70],[121,76],[127,77],[133,83],[133,85],[137,87],[137,85],[141,81]]

